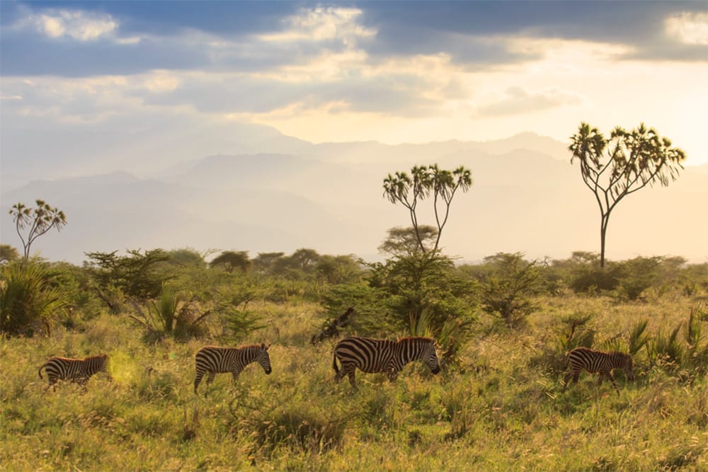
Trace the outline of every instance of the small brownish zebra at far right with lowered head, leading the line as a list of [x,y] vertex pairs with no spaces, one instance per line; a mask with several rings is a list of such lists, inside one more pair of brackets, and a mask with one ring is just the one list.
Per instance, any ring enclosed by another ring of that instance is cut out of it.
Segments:
[[566,391],[568,381],[573,377],[573,384],[578,383],[578,376],[581,370],[585,369],[594,374],[600,372],[598,386],[603,384],[605,376],[609,377],[612,385],[615,386],[617,395],[619,388],[615,381],[615,376],[612,375],[614,369],[622,369],[627,379],[634,380],[634,369],[632,368],[632,356],[624,352],[601,352],[587,347],[576,347],[567,354],[566,365],[570,364],[570,369],[564,381],[563,391]]

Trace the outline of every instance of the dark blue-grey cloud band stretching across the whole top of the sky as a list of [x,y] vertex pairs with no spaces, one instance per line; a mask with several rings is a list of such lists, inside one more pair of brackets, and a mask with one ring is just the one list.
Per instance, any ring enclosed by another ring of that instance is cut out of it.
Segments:
[[[442,52],[459,66],[484,68],[536,58],[508,50],[503,38],[509,36],[628,45],[634,52],[627,59],[706,60],[704,45],[680,43],[663,25],[671,15],[705,12],[701,1],[0,1],[0,67],[6,76],[268,69],[346,47],[341,40],[255,40],[282,31],[285,18],[301,8],[322,5],[362,11],[357,21],[377,31],[358,42],[372,62]],[[14,27],[30,14],[64,10],[110,16],[118,28],[110,37],[78,42]],[[126,38],[140,41],[119,41]]]

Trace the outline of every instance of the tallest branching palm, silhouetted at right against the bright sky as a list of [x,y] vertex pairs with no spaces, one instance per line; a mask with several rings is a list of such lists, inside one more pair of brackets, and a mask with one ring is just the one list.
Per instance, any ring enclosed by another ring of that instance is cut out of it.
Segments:
[[644,123],[629,131],[616,127],[606,139],[597,128],[581,122],[571,140],[571,163],[580,161],[583,182],[600,207],[600,267],[604,268],[607,225],[617,203],[646,185],[666,187],[678,177],[686,156]]

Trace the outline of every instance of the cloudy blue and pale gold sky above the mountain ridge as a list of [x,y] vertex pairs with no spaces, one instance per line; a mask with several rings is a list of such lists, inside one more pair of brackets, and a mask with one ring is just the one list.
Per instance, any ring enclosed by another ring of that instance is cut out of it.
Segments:
[[[684,149],[687,165],[708,163],[706,1],[0,0],[0,9],[0,137],[130,139],[156,123],[174,134],[256,123],[313,143],[518,132],[567,142],[581,121],[605,134],[644,122]],[[3,154],[2,167],[23,159],[21,146]],[[94,170],[100,163],[98,154]]]

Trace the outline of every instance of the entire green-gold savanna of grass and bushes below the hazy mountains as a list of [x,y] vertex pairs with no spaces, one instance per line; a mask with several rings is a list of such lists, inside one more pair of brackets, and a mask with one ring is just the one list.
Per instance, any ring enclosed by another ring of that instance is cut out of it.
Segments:
[[[4,319],[22,293],[54,298],[35,297],[36,318],[0,338],[0,469],[708,470],[705,264],[302,255],[32,260],[42,289],[4,265]],[[420,272],[404,270],[413,260]],[[353,391],[332,368],[347,335],[432,336],[442,370],[412,362],[394,383],[358,371]],[[261,342],[272,374],[253,363],[235,386],[217,374],[195,395],[200,347]],[[636,379],[615,370],[617,395],[583,372],[563,391],[565,353],[580,345],[632,353]],[[101,353],[110,377],[85,388],[38,376],[52,356]]]

